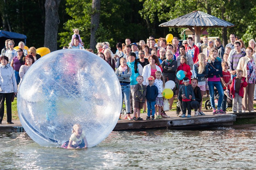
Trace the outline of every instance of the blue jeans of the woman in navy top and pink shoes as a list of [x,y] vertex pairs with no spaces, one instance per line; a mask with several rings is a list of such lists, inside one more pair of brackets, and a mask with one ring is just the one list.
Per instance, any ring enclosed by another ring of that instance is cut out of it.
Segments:
[[219,93],[219,100],[218,100],[218,106],[217,110],[220,109],[221,103],[224,97],[224,92],[222,88],[222,84],[220,81],[208,81],[208,86],[209,86],[209,92],[210,92],[210,102],[211,102],[211,107],[212,109],[215,109],[215,103],[214,103],[214,86],[218,90]]

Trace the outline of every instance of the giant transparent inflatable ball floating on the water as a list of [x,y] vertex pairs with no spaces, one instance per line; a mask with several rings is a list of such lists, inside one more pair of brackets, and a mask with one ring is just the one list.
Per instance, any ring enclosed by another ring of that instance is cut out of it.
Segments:
[[79,123],[89,147],[104,140],[118,121],[122,94],[109,64],[85,50],[58,50],[37,60],[20,84],[22,126],[42,146],[60,147]]

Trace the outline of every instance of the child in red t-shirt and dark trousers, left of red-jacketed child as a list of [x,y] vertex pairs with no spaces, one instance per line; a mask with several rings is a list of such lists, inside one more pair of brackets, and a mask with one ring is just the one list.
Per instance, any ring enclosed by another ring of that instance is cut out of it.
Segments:
[[222,61],[221,67],[222,67],[222,75],[223,75],[223,77],[221,78],[221,81],[225,85],[225,87],[223,87],[223,91],[225,95],[223,97],[223,101],[221,104],[221,110],[226,112],[227,98],[232,100],[230,96],[230,91],[229,91],[230,89],[229,84],[232,82],[232,80],[231,80],[230,72],[228,71],[228,62]]

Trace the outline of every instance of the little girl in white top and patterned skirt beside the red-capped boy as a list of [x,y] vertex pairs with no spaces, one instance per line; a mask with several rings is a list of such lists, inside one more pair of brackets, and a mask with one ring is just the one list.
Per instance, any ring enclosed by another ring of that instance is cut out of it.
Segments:
[[[156,97],[156,106],[155,106],[155,113],[156,113],[156,119],[163,119],[161,116],[161,107],[164,106],[164,98],[163,98],[163,90],[164,90],[164,78],[162,76],[161,71],[156,71],[156,80],[154,82],[154,85],[158,89],[158,96]],[[157,116],[157,109],[158,109],[158,116]]]

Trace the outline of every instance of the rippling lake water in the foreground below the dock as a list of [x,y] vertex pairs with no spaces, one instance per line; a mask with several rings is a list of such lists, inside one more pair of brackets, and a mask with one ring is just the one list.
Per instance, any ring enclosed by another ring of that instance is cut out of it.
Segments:
[[0,133],[0,169],[256,169],[256,130],[111,132],[88,149],[41,147]]

